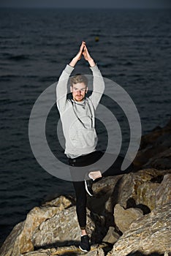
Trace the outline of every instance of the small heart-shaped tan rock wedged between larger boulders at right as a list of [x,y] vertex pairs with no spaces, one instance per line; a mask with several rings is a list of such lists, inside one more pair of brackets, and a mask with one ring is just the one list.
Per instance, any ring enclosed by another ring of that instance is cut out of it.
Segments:
[[115,224],[124,233],[126,230],[129,230],[129,226],[134,222],[136,219],[143,216],[143,212],[138,208],[129,208],[124,209],[119,204],[115,205],[114,208],[114,217],[115,217]]

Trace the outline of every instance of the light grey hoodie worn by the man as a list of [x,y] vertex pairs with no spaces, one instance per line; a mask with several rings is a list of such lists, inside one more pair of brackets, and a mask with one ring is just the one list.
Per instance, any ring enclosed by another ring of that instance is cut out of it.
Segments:
[[56,86],[56,105],[61,116],[65,137],[67,157],[75,158],[96,150],[97,135],[95,115],[97,105],[104,92],[104,80],[97,66],[90,67],[93,72],[93,92],[82,102],[66,99],[67,83],[74,67],[66,65]]

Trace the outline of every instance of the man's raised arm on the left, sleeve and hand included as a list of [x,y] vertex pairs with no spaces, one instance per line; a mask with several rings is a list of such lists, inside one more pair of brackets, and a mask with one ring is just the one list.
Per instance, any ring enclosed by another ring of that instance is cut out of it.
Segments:
[[85,42],[82,42],[80,46],[80,50],[77,55],[72,59],[72,61],[66,65],[64,71],[61,73],[61,76],[58,80],[58,84],[56,86],[56,105],[59,110],[59,113],[65,110],[66,106],[66,95],[67,95],[67,83],[69,80],[69,75],[71,75],[74,70],[75,64],[77,61],[81,59],[83,48],[85,46]]

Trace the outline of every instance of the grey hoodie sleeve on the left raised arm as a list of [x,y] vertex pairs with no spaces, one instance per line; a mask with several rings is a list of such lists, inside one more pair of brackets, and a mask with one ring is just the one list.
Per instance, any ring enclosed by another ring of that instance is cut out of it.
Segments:
[[66,95],[67,95],[67,83],[69,80],[69,75],[71,75],[74,67],[66,65],[65,69],[61,73],[60,78],[56,86],[56,105],[59,113],[65,110],[66,106]]

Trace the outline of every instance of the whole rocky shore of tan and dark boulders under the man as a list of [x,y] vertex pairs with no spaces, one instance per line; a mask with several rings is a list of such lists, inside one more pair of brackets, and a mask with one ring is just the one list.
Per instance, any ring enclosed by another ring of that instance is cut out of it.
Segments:
[[[102,178],[88,197],[86,255],[171,255],[171,121],[142,136],[136,171]],[[34,207],[0,249],[1,256],[82,255],[75,198]]]

